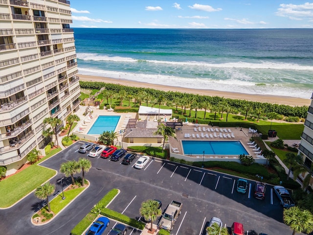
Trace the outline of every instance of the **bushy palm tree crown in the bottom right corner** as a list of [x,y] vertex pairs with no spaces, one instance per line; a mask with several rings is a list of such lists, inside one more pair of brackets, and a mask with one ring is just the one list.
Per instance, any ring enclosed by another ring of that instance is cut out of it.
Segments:
[[313,215],[308,210],[301,210],[299,207],[284,209],[283,218],[284,223],[292,230],[292,235],[313,232]]

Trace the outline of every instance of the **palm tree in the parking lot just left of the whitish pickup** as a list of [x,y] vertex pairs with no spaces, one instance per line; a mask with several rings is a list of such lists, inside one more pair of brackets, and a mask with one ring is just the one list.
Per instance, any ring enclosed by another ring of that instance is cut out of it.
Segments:
[[157,217],[162,214],[162,210],[158,208],[159,204],[155,200],[147,200],[141,203],[139,213],[145,218],[145,220],[151,223],[150,231],[152,231],[152,223],[156,221]]

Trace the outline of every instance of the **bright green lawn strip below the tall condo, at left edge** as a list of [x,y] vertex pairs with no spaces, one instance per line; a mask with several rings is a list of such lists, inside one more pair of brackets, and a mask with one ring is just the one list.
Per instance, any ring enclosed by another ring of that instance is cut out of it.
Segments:
[[55,175],[55,171],[31,165],[0,182],[0,208],[6,208]]

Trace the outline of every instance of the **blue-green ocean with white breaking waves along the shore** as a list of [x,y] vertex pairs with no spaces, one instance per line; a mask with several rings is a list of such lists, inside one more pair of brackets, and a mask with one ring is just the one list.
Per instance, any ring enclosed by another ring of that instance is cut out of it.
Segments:
[[313,29],[74,28],[79,73],[309,99]]

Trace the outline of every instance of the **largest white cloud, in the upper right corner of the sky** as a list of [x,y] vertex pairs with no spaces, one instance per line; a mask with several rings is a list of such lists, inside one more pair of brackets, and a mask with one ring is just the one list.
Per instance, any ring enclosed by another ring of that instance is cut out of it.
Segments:
[[301,20],[303,17],[313,17],[313,3],[306,2],[304,4],[280,4],[276,15],[288,17],[291,20]]

